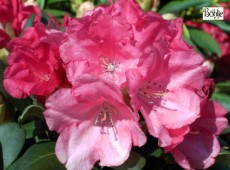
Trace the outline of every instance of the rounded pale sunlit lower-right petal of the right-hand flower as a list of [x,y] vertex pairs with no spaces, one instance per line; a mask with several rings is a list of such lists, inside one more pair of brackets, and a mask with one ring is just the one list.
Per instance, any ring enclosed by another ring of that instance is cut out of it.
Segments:
[[199,117],[200,99],[193,91],[176,89],[167,92],[156,108],[160,122],[169,129],[178,129],[194,122]]

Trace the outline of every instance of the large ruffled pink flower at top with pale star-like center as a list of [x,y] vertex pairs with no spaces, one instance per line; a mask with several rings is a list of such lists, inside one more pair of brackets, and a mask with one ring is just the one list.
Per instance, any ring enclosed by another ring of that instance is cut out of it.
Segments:
[[60,47],[69,81],[73,83],[78,75],[90,73],[124,87],[125,72],[137,68],[149,48],[156,44],[169,46],[177,35],[177,25],[177,21],[163,20],[158,14],[144,15],[135,1],[118,0],[88,11],[85,17],[69,23]]

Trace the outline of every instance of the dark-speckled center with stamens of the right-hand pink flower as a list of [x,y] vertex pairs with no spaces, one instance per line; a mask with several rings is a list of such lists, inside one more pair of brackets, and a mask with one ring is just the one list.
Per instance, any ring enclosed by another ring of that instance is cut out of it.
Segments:
[[139,96],[150,104],[154,103],[154,100],[162,98],[167,92],[168,89],[165,90],[162,84],[157,84],[152,81],[144,83],[138,90]]

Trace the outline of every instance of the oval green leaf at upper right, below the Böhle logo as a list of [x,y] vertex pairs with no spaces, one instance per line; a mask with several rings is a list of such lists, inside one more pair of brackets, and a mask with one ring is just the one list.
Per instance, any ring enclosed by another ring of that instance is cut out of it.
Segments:
[[216,42],[208,33],[198,30],[198,29],[189,29],[189,33],[192,41],[200,48],[202,48],[207,53],[215,53],[221,55],[221,50]]

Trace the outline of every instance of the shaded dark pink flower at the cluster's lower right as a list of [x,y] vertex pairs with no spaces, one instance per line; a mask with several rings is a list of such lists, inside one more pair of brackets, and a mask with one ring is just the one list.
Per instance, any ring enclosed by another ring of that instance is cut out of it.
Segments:
[[228,127],[224,117],[227,111],[217,102],[205,100],[201,105],[200,118],[191,126],[183,142],[171,153],[185,169],[206,169],[214,164],[220,151],[217,135]]

